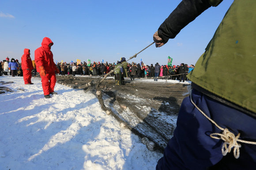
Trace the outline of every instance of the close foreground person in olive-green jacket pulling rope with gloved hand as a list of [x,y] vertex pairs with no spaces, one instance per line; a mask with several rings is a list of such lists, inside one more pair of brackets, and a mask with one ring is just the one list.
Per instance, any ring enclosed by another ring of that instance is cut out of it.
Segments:
[[[154,33],[156,47],[221,1],[182,0]],[[255,169],[255,9],[255,0],[234,0],[226,12],[187,76],[192,91],[156,169]]]

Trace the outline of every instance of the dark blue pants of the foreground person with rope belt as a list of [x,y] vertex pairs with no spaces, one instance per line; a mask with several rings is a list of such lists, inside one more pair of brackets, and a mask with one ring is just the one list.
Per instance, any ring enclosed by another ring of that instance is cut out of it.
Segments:
[[[256,119],[230,106],[224,105],[199,91],[192,90],[194,103],[220,127],[246,141],[256,141]],[[177,119],[173,137],[159,159],[157,170],[205,170],[230,169],[251,170],[256,168],[256,145],[241,144],[240,157],[235,159],[233,149],[222,156],[223,141],[210,137],[212,133],[222,133],[194,105],[190,98],[184,98]]]

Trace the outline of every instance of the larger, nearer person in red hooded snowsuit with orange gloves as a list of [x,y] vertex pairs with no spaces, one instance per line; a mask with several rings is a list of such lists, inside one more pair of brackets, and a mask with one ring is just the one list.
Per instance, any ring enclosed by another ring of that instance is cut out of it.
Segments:
[[41,45],[41,47],[35,50],[35,64],[37,72],[41,76],[45,98],[50,98],[50,94],[57,94],[54,91],[56,83],[55,71],[59,74],[60,70],[53,61],[53,53],[51,51],[53,41],[45,37]]

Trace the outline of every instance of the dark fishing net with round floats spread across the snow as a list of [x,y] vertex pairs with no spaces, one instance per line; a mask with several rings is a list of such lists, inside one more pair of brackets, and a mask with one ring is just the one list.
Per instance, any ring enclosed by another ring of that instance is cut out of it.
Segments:
[[94,94],[102,110],[117,119],[120,127],[147,139],[145,145],[149,150],[163,152],[173,136],[186,85],[125,81],[126,85],[117,86],[113,79],[100,82],[98,78],[76,77],[69,80],[75,88],[83,87],[86,93]]

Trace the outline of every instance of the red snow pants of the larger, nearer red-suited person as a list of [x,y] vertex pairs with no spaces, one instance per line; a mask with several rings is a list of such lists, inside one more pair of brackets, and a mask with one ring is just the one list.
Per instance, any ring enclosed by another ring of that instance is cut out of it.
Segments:
[[54,91],[54,87],[56,83],[55,72],[46,73],[46,76],[41,76],[41,82],[42,82],[44,95],[48,95],[52,93]]

